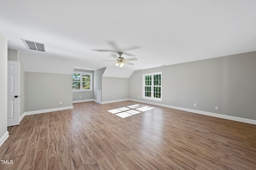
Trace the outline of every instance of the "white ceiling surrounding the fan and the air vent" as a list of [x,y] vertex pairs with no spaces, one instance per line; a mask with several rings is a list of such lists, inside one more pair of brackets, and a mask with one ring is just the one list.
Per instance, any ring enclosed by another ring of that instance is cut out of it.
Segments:
[[[102,61],[117,53],[92,49],[139,47],[125,51],[138,61],[120,68],[138,70],[256,51],[255,9],[255,0],[1,0],[0,32],[26,59],[87,70],[117,68]],[[21,39],[45,43],[46,53]]]

